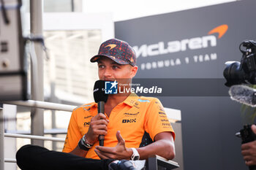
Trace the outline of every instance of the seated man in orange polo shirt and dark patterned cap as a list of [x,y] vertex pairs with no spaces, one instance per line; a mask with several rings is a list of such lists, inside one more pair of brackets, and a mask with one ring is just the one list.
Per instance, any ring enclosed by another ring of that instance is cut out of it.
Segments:
[[[98,64],[99,80],[116,80],[118,85],[127,89],[131,88],[132,78],[138,71],[135,51],[119,39],[103,42],[91,62]],[[73,110],[63,152],[72,155],[72,160],[78,159],[74,155],[79,156],[79,161],[84,157],[86,163],[93,161],[97,164],[95,159],[99,158],[110,160],[104,162],[105,166],[113,160],[143,160],[149,155],[170,160],[175,156],[175,134],[170,123],[166,122],[167,116],[157,98],[139,97],[130,90],[111,94],[105,103],[105,113],[97,114],[97,103],[94,102]],[[105,136],[104,147],[99,146],[99,135]],[[70,164],[69,158],[64,157],[66,164]],[[96,166],[90,167],[97,169]]]

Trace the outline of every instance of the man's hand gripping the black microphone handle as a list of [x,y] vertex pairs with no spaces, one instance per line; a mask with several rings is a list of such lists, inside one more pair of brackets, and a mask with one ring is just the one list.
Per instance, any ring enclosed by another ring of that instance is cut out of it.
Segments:
[[86,139],[88,140],[88,142],[93,144],[94,142],[97,142],[99,135],[108,134],[108,123],[109,120],[102,113],[99,113],[96,116],[92,117],[89,130],[86,134]]

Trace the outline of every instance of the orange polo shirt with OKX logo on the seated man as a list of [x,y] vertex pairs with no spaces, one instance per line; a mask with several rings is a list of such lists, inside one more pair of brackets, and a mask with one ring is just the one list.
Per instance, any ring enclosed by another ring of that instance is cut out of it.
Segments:
[[[85,104],[73,110],[63,152],[70,152],[77,147],[79,140],[89,130],[91,117],[95,115],[97,115],[97,103]],[[170,131],[175,139],[173,128],[158,98],[131,94],[114,107],[110,117],[107,118],[109,123],[108,134],[105,135],[104,140],[105,147],[116,146],[118,143],[116,131],[121,132],[126,147],[146,146],[154,141],[154,136],[164,131]],[[99,146],[99,142],[91,147],[86,158],[99,159],[94,152],[96,146]]]

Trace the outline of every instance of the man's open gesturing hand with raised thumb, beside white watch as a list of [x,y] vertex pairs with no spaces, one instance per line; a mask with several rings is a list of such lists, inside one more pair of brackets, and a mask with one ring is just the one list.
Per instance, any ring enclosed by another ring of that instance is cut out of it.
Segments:
[[124,139],[122,138],[120,131],[116,132],[116,139],[118,140],[118,144],[116,147],[100,147],[97,146],[94,150],[99,158],[101,159],[127,159],[129,160],[132,156],[132,149],[127,149],[125,147]]

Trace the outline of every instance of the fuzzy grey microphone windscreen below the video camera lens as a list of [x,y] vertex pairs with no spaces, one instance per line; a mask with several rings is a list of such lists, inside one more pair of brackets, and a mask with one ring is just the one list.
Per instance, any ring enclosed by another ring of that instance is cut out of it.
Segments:
[[241,104],[256,107],[256,90],[246,85],[233,85],[228,91],[230,98]]

